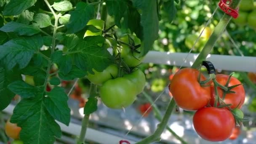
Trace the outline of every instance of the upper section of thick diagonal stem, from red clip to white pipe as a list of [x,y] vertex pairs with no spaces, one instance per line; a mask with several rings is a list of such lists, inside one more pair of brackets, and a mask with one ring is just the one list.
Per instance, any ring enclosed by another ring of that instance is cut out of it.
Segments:
[[[239,5],[241,0],[233,0],[232,3],[230,4],[230,8],[235,9]],[[203,50],[200,52],[198,55],[197,59],[192,65],[192,68],[199,69],[202,61],[204,61],[207,57],[207,55],[211,52],[211,49],[215,45],[216,41],[218,40],[219,37],[221,37],[221,33],[224,31],[224,29],[227,27],[227,24],[229,21],[232,19],[232,16],[227,15],[224,13],[223,17],[219,21],[219,24],[215,27],[211,37],[209,37],[209,40],[205,44]]]

